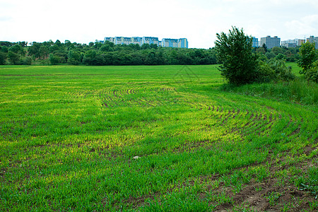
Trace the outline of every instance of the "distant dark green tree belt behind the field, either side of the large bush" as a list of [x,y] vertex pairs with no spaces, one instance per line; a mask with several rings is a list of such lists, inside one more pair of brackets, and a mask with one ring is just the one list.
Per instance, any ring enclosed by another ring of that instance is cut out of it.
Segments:
[[[299,48],[257,47],[254,53],[261,60],[278,57],[286,61],[298,59]],[[90,42],[88,45],[70,42],[0,42],[0,65],[199,65],[218,64],[216,51],[210,49],[182,49],[157,45],[114,45],[112,42]]]

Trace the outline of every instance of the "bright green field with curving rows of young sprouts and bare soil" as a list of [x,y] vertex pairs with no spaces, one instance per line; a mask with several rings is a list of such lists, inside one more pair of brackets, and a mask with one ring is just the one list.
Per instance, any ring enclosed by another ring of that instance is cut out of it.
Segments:
[[213,65],[0,66],[0,211],[317,211],[317,105],[223,83]]

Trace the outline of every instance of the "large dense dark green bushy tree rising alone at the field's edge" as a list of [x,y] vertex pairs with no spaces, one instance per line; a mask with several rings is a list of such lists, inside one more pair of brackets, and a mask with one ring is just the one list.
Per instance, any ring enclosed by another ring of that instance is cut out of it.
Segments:
[[232,27],[228,35],[216,34],[216,52],[221,75],[229,83],[242,85],[257,80],[257,54],[252,53],[252,37]]

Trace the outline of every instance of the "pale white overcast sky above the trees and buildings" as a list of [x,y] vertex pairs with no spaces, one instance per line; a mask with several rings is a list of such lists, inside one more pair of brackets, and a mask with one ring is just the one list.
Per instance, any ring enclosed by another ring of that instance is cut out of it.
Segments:
[[235,26],[281,40],[318,36],[317,0],[0,0],[0,40],[86,43],[104,37],[183,38],[214,46]]

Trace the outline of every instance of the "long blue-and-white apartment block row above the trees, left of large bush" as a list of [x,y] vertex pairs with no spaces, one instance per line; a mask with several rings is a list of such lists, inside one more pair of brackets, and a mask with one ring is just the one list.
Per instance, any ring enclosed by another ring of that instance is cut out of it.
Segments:
[[130,45],[130,44],[155,44],[159,47],[179,47],[188,48],[187,38],[170,39],[163,38],[162,41],[158,37],[105,37],[105,41],[113,42],[115,45]]

